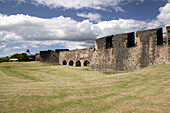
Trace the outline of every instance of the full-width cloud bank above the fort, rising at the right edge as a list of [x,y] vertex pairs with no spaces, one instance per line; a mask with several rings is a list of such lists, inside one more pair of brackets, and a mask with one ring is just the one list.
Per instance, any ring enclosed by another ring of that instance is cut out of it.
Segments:
[[[118,19],[94,24],[89,20],[78,22],[63,16],[43,19],[23,14],[10,16],[0,14],[0,52],[4,56],[10,53],[9,50],[27,47],[40,49],[39,47],[50,45],[61,45],[69,49],[91,47],[94,39],[106,35],[170,25],[170,3],[161,7],[159,11],[157,18],[149,23],[134,19]],[[17,45],[13,49],[7,47],[9,44],[19,42],[22,45]]]

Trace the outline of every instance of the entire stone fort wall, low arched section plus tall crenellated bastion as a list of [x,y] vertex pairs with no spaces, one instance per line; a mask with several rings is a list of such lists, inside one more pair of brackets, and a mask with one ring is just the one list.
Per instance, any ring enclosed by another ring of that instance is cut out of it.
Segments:
[[41,51],[41,62],[87,66],[103,71],[137,70],[149,65],[170,63],[170,26],[106,36],[95,40],[91,49]]

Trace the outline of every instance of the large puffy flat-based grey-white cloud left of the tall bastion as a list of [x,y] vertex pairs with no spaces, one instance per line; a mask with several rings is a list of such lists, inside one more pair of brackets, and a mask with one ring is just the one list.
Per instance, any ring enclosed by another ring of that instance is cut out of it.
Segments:
[[[0,34],[3,40],[89,40],[96,35],[88,20],[77,22],[63,16],[51,19],[29,15],[0,15]],[[79,38],[81,37],[81,38]]]

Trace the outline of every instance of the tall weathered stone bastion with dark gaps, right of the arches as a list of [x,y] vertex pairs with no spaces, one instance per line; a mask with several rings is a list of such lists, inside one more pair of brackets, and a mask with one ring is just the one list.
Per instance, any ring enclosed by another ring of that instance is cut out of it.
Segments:
[[104,71],[137,70],[149,65],[169,63],[169,31],[162,28],[107,36],[95,40],[90,69]]

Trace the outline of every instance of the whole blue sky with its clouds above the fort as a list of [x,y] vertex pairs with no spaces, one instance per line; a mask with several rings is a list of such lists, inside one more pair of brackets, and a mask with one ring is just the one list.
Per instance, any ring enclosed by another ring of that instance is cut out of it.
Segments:
[[0,0],[0,57],[93,47],[106,35],[170,25],[170,0]]

